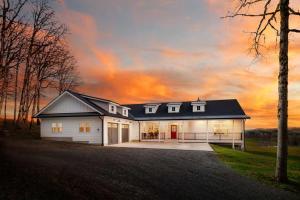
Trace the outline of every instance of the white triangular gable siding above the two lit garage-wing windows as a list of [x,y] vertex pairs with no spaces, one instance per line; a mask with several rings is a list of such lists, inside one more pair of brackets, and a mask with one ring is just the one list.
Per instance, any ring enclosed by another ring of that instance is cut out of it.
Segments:
[[78,113],[78,112],[95,112],[75,97],[66,93],[54,104],[50,105],[43,113]]

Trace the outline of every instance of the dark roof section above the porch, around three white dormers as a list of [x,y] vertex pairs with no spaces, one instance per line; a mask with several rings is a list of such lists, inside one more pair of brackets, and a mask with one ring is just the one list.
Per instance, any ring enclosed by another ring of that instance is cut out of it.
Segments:
[[205,112],[193,112],[191,101],[182,102],[179,113],[168,113],[168,102],[159,103],[156,113],[145,113],[146,104],[127,104],[131,108],[130,113],[137,120],[155,119],[248,119],[239,102],[236,99],[208,100]]

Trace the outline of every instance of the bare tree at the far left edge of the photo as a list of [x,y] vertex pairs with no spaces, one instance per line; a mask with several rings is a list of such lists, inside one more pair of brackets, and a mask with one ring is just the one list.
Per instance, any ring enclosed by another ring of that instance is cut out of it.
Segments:
[[27,0],[2,0],[0,2],[0,115],[4,103],[4,121],[7,117],[9,80],[12,69],[20,59],[25,30],[24,16],[21,14]]

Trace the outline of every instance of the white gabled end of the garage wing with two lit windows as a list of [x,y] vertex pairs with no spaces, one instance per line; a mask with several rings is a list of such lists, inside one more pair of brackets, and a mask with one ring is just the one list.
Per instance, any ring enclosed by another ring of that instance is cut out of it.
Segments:
[[44,139],[102,144],[100,113],[68,92],[48,104],[37,117],[41,119]]

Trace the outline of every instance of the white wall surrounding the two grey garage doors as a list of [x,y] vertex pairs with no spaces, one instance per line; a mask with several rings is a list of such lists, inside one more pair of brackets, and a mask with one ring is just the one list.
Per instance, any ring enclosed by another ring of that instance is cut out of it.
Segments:
[[132,141],[133,138],[135,138],[135,127],[133,124],[135,121],[128,120],[128,119],[122,119],[122,118],[115,118],[115,117],[108,117],[104,116],[103,118],[104,124],[103,124],[103,131],[104,131],[104,145],[108,145],[108,132],[107,132],[107,123],[117,123],[118,124],[118,142],[122,143],[122,124],[128,124],[129,125],[129,141]]

